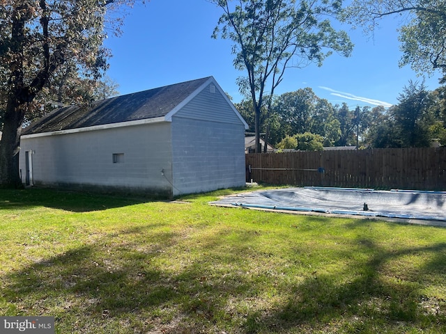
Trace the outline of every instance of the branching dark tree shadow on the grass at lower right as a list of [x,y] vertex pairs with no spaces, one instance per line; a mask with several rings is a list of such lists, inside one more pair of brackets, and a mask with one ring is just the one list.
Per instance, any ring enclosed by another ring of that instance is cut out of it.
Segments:
[[[443,280],[446,243],[401,250],[384,250],[371,239],[358,239],[357,243],[360,253],[369,256],[351,266],[350,279],[343,281],[339,273],[319,275],[315,271],[312,277],[289,287],[291,294],[284,307],[248,319],[247,333],[288,333],[300,327],[319,328],[325,333],[321,324],[339,324],[339,333],[406,333],[414,328],[445,333],[445,301],[440,301],[440,307],[436,305],[436,312],[427,312],[422,305],[428,298],[422,289],[429,285],[425,276]],[[407,268],[405,279],[383,274],[387,262],[420,253],[431,253],[431,260],[421,267]],[[342,324],[342,319],[348,321]],[[277,327],[280,330],[276,331]]]

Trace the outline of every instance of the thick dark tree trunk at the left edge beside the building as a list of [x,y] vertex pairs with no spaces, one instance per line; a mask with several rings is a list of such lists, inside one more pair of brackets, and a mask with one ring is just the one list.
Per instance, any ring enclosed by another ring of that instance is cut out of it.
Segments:
[[20,134],[24,112],[13,97],[8,99],[0,141],[0,187],[21,188],[19,172]]

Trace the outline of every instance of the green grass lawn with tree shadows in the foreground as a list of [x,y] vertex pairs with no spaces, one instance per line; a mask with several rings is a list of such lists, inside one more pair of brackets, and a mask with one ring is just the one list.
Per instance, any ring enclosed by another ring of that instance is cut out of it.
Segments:
[[0,315],[56,333],[446,333],[446,229],[0,190]]

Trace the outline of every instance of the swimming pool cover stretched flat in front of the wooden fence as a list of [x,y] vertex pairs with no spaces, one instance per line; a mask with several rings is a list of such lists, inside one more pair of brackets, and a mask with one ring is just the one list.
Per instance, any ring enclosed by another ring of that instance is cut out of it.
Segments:
[[240,193],[210,204],[446,222],[445,191],[305,187]]

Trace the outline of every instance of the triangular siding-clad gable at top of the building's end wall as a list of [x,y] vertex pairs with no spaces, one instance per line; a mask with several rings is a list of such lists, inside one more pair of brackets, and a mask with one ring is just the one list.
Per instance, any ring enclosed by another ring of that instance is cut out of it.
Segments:
[[[214,93],[212,93],[214,92]],[[243,124],[232,106],[211,82],[176,114],[176,117]],[[174,117],[175,117],[174,116]]]

